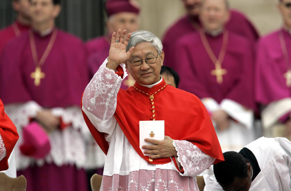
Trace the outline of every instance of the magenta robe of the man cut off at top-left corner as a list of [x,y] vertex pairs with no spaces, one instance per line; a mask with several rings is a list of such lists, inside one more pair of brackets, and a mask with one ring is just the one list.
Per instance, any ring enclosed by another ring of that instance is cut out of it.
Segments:
[[23,32],[27,31],[30,26],[22,25],[15,21],[11,25],[0,30],[0,55],[6,43],[12,38],[20,36]]

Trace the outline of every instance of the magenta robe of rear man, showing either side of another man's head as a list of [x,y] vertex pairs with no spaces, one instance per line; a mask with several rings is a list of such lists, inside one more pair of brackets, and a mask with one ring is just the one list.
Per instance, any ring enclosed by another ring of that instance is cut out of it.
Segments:
[[[255,27],[245,15],[235,10],[230,10],[230,14],[230,20],[225,26],[226,29],[247,38],[251,42],[259,38]],[[166,66],[177,70],[179,64],[177,65],[177,63],[174,62],[173,57],[176,51],[176,40],[182,35],[196,31],[197,27],[200,25],[198,17],[190,18],[189,16],[183,16],[166,31],[163,37],[163,51],[165,52],[164,64]]]

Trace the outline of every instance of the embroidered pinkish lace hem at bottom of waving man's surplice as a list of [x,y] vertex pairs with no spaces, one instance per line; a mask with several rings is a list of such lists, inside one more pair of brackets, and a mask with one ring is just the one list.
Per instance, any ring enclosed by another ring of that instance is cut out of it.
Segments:
[[181,177],[175,170],[139,170],[129,175],[104,176],[100,190],[102,191],[197,191],[195,177]]

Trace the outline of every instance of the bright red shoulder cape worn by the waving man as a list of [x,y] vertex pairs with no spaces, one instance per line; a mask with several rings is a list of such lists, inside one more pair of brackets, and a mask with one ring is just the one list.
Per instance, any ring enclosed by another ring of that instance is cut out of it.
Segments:
[[[164,80],[152,88],[135,83],[135,87],[148,94],[154,94],[165,85]],[[204,153],[216,158],[215,163],[224,160],[209,114],[194,94],[167,85],[154,94],[153,101],[156,120],[165,121],[165,135],[174,140],[187,140],[193,143]],[[114,117],[139,156],[152,164],[169,163],[171,158],[153,159],[150,162],[149,157],[144,156],[139,148],[139,121],[152,119],[151,108],[148,95],[137,91],[134,87],[129,87],[126,91],[120,89]],[[104,138],[104,133],[96,130],[84,112],[83,116],[96,142],[107,154],[109,145]]]

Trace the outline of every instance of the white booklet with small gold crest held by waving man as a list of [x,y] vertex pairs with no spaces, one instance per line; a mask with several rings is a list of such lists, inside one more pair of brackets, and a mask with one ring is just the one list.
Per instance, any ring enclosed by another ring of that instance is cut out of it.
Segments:
[[[165,139],[165,121],[139,121],[139,148],[143,145],[154,145],[145,141],[146,138],[164,140]],[[150,155],[145,154],[144,155]]]

